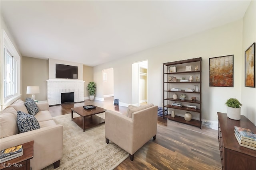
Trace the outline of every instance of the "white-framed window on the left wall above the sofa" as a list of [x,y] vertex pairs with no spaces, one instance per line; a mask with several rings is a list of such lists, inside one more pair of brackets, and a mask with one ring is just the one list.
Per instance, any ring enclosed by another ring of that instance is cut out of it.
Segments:
[[20,96],[20,55],[6,32],[1,30],[1,106],[6,107]]

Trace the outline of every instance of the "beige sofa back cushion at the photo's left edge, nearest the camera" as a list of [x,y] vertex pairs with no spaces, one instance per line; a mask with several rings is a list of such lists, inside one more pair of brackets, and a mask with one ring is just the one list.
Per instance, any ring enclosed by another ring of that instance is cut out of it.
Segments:
[[16,135],[19,133],[17,126],[17,111],[8,107],[0,114],[0,138]]

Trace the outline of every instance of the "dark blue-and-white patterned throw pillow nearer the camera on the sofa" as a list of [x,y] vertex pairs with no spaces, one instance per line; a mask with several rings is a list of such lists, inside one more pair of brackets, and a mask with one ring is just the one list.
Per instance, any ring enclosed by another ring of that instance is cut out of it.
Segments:
[[40,125],[33,115],[18,111],[17,124],[21,133],[39,129]]

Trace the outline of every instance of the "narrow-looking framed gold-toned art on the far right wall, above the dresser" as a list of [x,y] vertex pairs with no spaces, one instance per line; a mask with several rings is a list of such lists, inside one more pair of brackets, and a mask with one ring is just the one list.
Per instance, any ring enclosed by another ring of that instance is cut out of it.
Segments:
[[244,52],[244,86],[255,87],[255,43]]

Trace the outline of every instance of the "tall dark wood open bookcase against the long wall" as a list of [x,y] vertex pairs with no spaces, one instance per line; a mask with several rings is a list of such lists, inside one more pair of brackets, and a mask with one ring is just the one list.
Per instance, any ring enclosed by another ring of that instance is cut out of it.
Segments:
[[[175,117],[171,117],[171,114],[164,115],[163,119],[168,118],[173,121],[178,121],[181,123],[186,123],[188,125],[193,125],[196,127],[202,128],[202,104],[201,104],[201,82],[202,82],[202,58],[187,59],[182,61],[174,61],[169,63],[163,63],[163,108],[168,109],[168,113],[171,113],[172,110],[177,114]],[[174,72],[170,71],[170,67],[176,66]],[[186,66],[191,66],[191,70],[186,70]],[[198,69],[195,70],[195,66],[198,66]],[[169,77],[176,77],[176,82],[170,81]],[[190,76],[193,76],[192,82],[180,82],[182,77],[186,80]],[[196,81],[196,76],[198,76],[198,81]],[[194,89],[194,85],[198,86],[198,92],[187,92],[186,88]],[[171,88],[180,88],[181,91],[171,91]],[[177,99],[172,98],[173,94],[178,95]],[[186,99],[181,100],[180,95],[185,94]],[[191,101],[191,97],[196,97],[196,101]],[[173,102],[179,102],[182,104],[182,107],[172,106]],[[188,108],[186,105],[195,105],[196,109]],[[186,121],[184,119],[184,114],[186,112],[192,113],[191,121]]]

